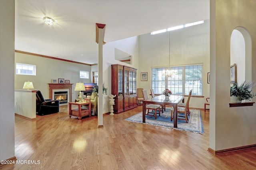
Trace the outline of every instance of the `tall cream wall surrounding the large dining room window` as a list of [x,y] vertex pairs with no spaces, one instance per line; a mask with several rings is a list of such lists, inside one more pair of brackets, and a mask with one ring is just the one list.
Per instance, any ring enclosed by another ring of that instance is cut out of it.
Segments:
[[[186,27],[170,32],[139,36],[138,88],[150,93],[151,68],[169,65],[203,63],[203,96],[210,96],[210,84],[207,84],[207,72],[210,72],[210,22]],[[140,72],[148,72],[148,81],[140,81]],[[191,98],[190,107],[203,108],[205,98]]]

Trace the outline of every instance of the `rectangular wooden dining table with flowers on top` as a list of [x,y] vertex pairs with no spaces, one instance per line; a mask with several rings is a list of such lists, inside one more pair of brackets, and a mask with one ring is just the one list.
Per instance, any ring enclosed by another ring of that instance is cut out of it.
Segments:
[[142,122],[146,122],[146,105],[147,104],[159,104],[159,105],[168,105],[174,107],[174,123],[173,127],[177,128],[178,120],[178,104],[184,102],[183,95],[170,95],[169,98],[164,95],[155,96],[154,98],[142,100]]

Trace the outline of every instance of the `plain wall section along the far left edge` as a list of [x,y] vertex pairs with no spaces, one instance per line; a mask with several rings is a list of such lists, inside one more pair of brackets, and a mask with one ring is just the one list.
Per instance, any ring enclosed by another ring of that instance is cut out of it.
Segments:
[[0,160],[14,157],[14,0],[0,0]]

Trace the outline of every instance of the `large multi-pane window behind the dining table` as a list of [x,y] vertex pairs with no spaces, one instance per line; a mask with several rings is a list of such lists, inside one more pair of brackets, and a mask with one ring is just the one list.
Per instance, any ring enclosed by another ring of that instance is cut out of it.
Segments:
[[156,94],[162,94],[168,88],[172,94],[188,95],[192,89],[192,95],[202,96],[202,71],[203,65],[173,66],[171,67],[174,76],[168,78],[164,76],[168,68],[151,69],[151,87]]

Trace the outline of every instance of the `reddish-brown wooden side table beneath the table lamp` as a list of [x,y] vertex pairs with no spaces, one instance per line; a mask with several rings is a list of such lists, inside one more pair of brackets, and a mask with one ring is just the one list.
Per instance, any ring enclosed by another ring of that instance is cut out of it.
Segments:
[[[78,117],[79,120],[82,119],[82,117],[84,116],[90,116],[91,115],[91,102],[69,102],[69,117],[74,116],[74,117]],[[72,109],[71,106],[72,105],[77,105],[78,108],[76,109]],[[83,109],[82,106],[84,105],[88,105],[88,109]]]

